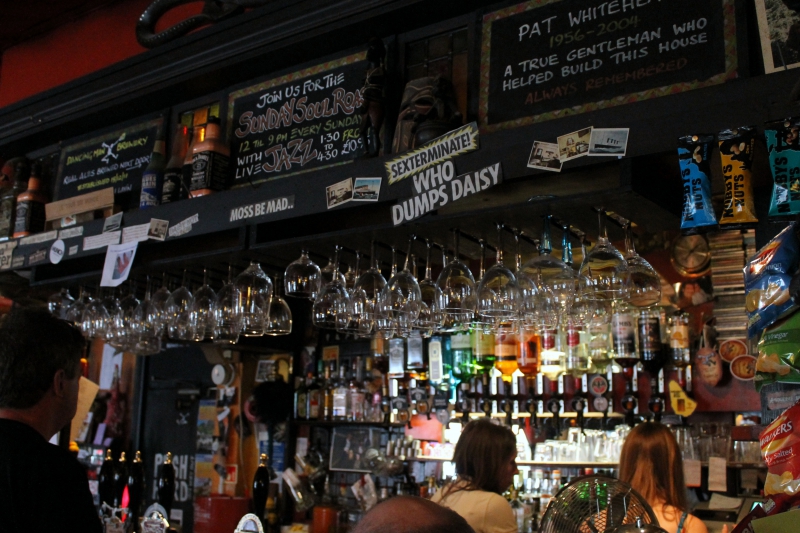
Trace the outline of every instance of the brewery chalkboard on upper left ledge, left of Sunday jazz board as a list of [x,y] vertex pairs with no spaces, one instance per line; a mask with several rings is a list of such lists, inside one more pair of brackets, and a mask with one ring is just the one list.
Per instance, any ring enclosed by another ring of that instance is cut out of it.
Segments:
[[142,173],[163,122],[157,117],[64,146],[55,199],[114,187],[114,203],[125,211],[138,209]]

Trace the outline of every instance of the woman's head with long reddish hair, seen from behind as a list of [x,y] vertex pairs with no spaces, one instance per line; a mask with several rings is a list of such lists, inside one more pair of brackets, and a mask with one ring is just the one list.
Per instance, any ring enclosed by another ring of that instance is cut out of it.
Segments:
[[619,479],[651,505],[663,501],[686,510],[683,459],[678,441],[667,426],[645,422],[631,430],[619,458]]

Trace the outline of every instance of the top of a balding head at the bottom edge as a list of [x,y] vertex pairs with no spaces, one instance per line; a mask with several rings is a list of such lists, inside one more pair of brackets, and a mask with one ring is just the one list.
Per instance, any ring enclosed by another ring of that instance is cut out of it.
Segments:
[[475,533],[454,511],[413,496],[397,496],[370,509],[353,533]]

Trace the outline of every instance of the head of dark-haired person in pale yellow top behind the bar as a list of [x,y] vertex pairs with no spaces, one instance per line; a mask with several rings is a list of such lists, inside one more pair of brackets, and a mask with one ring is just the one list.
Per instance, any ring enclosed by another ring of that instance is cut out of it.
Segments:
[[517,470],[517,439],[506,426],[488,419],[473,420],[458,438],[453,461],[470,489],[504,492]]

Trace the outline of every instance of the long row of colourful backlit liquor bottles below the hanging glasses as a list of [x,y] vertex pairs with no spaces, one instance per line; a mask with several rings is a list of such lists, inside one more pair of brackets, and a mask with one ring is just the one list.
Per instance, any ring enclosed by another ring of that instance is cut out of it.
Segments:
[[[392,415],[406,422],[414,412],[435,412],[444,422],[451,402],[461,412],[496,412],[498,395],[520,391],[515,376],[536,393],[539,375],[555,383],[561,376],[606,374],[612,362],[629,380],[637,366],[651,378],[665,366],[685,368],[691,362],[688,316],[667,319],[661,310],[620,307],[608,324],[589,328],[501,328],[496,334],[474,328],[427,339],[417,331],[375,338],[369,355],[343,359],[338,369],[336,361],[318,361],[316,374],[309,372],[296,387],[295,417],[379,423]],[[502,381],[491,383],[492,373]]]

